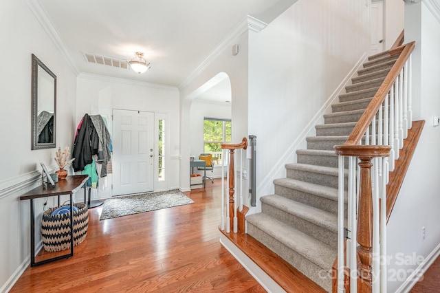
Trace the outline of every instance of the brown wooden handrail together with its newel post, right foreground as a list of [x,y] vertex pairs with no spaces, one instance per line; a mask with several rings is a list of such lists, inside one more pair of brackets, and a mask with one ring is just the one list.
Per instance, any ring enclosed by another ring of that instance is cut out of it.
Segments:
[[[399,57],[395,61],[390,72],[388,72],[384,78],[382,85],[380,85],[375,96],[358,120],[358,123],[356,123],[347,141],[343,145],[334,146],[336,154],[355,157],[360,160],[358,164],[360,167],[360,172],[358,174],[360,186],[357,211],[358,224],[356,233],[356,239],[358,239],[357,242],[359,244],[356,253],[358,258],[358,292],[371,292],[373,285],[373,191],[371,185],[371,167],[373,166],[372,160],[373,158],[378,157],[388,157],[392,149],[392,147],[388,145],[360,144],[364,135],[368,135],[367,131],[370,125],[373,124],[374,126],[376,114],[382,111],[381,107],[385,99],[388,97],[388,93],[390,93],[391,88],[395,85],[397,78],[399,78],[399,74],[402,72],[402,69],[406,65],[406,61],[408,61],[408,58],[415,47],[415,42],[411,42],[399,47],[397,47],[397,43],[398,41],[396,41],[395,45],[393,45],[392,50],[388,50],[388,53],[391,55],[399,54]],[[388,111],[388,109],[386,108],[384,111]],[[382,116],[379,116],[379,119],[382,119]],[[372,134],[375,135],[375,133]],[[394,160],[394,158],[392,160]],[[376,180],[378,180],[378,177],[376,177]],[[377,186],[379,186],[379,184],[377,184]],[[377,193],[378,192],[379,191],[377,191]],[[353,213],[356,213],[356,211],[353,211]],[[377,243],[379,243],[379,241],[377,241]],[[338,264],[338,269],[339,265],[340,264]],[[377,274],[377,272],[375,273]],[[340,282],[345,284],[347,283],[347,280]],[[341,283],[339,283],[339,285],[341,285]]]

